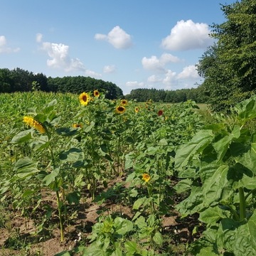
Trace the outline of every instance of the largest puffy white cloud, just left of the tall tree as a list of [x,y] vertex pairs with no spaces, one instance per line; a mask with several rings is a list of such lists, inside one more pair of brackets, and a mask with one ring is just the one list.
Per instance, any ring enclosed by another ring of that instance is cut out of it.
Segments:
[[210,30],[206,23],[181,20],[174,28],[171,28],[170,35],[162,40],[161,46],[166,50],[206,48],[213,43],[213,38],[209,37],[209,33]]

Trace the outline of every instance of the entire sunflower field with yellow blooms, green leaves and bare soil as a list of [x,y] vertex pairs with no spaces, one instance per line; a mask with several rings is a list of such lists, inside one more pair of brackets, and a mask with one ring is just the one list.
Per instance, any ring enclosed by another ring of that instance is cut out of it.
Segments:
[[1,255],[253,255],[255,101],[1,94]]

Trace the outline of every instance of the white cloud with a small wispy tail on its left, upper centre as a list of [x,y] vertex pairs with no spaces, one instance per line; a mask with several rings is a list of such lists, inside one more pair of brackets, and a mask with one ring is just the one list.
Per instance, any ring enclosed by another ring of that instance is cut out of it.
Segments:
[[112,28],[112,31],[107,35],[101,33],[95,34],[95,39],[105,40],[117,49],[127,49],[132,46],[132,37],[119,26]]

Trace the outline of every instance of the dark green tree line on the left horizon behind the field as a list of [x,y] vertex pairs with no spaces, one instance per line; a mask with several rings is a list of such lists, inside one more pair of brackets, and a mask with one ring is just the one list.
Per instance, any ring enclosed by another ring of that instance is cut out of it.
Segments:
[[47,78],[43,73],[35,74],[21,68],[0,69],[0,92],[30,92],[34,90],[71,93],[99,90],[105,92],[105,96],[110,100],[124,97],[122,89],[113,82],[84,76]]

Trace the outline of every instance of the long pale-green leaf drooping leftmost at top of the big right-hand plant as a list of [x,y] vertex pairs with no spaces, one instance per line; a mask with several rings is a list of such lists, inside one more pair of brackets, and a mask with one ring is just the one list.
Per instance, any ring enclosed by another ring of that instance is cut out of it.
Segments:
[[192,156],[202,151],[213,140],[213,132],[210,129],[201,130],[195,134],[193,139],[187,144],[181,146],[176,152],[175,168],[180,169],[186,166]]

